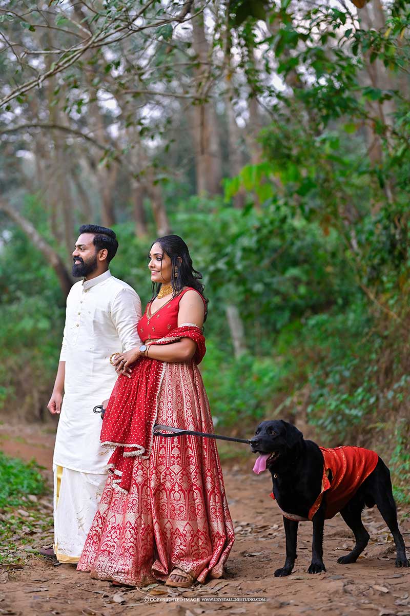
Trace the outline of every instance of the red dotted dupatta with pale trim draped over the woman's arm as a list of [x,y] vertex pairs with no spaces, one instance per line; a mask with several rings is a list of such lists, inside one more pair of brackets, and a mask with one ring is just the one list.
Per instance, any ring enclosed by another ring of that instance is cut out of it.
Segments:
[[[205,355],[205,338],[192,323],[186,323],[165,338],[151,344],[171,344],[190,338],[197,344],[193,357],[200,363]],[[165,362],[140,357],[133,365],[131,378],[120,375],[114,385],[101,428],[101,445],[114,449],[108,468],[118,476],[112,482],[120,490],[130,488],[133,457],[148,458],[152,445],[152,429],[157,417],[159,392],[165,375]]]

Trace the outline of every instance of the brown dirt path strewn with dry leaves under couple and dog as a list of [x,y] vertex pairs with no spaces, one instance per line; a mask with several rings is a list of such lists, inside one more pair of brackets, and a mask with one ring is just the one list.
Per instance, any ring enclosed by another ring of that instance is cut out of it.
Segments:
[[[36,434],[31,429],[27,440],[20,430],[20,440],[15,441],[14,434],[5,428],[2,426],[2,433],[8,436],[0,439],[2,450],[25,460],[34,457],[42,464],[50,464],[50,435],[39,431]],[[212,580],[189,591],[168,591],[163,585],[124,590],[112,588],[108,582],[91,580],[87,573],[77,573],[73,565],[53,566],[32,556],[24,569],[0,573],[0,615],[211,616],[225,610],[229,614],[252,611],[275,616],[410,616],[410,569],[395,569],[392,537],[374,509],[365,510],[364,521],[371,541],[357,563],[336,562],[353,544],[350,530],[338,515],[325,525],[326,573],[306,573],[312,533],[312,525],[306,522],[299,525],[298,561],[293,574],[275,578],[274,570],[284,562],[282,517],[269,498],[270,476],[254,475],[252,466],[253,456],[244,458],[240,464],[224,464],[237,535],[225,580]],[[402,522],[401,530],[410,547],[409,519]],[[250,602],[228,602],[227,597],[246,598]]]

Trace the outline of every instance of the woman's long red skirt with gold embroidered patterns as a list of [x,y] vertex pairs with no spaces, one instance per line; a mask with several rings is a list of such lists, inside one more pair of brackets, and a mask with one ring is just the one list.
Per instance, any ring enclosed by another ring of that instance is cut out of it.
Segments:
[[[165,364],[157,423],[213,431],[194,362]],[[135,586],[164,581],[174,567],[199,582],[223,575],[234,529],[215,440],[155,437],[149,457],[134,459],[128,493],[117,490],[113,478],[77,570]]]

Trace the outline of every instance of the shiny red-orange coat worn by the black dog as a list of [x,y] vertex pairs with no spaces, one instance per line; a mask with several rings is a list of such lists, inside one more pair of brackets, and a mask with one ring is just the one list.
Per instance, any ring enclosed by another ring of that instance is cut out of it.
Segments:
[[[363,484],[366,477],[376,468],[379,456],[371,449],[363,447],[334,447],[326,449],[320,447],[323,453],[323,478],[321,482],[321,492],[309,509],[309,520],[320,507],[323,494],[326,492],[325,518],[329,519],[336,515],[338,511],[352,498],[358,487]],[[329,482],[328,471],[331,471],[332,480]],[[275,500],[273,493],[270,496]],[[291,514],[285,517],[291,517]]]

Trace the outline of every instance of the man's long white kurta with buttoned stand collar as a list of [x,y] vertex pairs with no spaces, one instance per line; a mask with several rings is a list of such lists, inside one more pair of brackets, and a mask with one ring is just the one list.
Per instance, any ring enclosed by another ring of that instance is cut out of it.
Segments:
[[140,346],[136,331],[140,318],[140,298],[109,270],[71,288],[60,355],[65,361],[65,395],[53,464],[79,472],[106,472],[112,452],[100,445],[101,418],[93,407],[109,398],[117,380],[110,355]]

